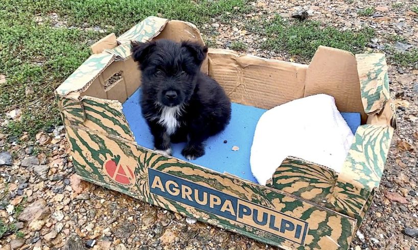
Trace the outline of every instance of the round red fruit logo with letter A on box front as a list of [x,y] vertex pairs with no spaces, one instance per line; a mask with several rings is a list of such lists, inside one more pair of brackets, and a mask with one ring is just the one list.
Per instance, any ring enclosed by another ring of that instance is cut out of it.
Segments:
[[[113,159],[104,164],[107,175],[118,184],[130,185],[134,183],[134,174],[128,166],[119,164],[120,156],[114,156]],[[118,165],[119,164],[119,165]]]

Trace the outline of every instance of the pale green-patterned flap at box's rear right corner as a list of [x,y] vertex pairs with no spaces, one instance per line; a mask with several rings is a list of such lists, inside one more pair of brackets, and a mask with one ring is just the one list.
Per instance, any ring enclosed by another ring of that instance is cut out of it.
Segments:
[[364,111],[378,113],[390,98],[385,55],[358,54],[356,61]]

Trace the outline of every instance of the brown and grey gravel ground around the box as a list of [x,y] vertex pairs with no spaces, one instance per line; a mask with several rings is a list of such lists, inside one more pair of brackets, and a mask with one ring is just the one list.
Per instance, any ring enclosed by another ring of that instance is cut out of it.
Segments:
[[[385,52],[389,61],[388,44],[398,51],[418,44],[418,15],[411,11],[414,1],[379,1],[370,16],[358,12],[375,1],[263,0],[251,4],[254,12],[228,21],[213,19],[200,27],[201,32],[215,47],[229,48],[241,41],[248,54],[308,63],[285,52],[264,51],[264,37],[246,30],[251,20],[275,14],[291,18],[304,8],[308,18],[342,30],[373,28],[376,37],[367,50]],[[402,37],[402,42],[390,39],[394,35]],[[390,88],[397,94],[398,129],[381,186],[352,243],[356,250],[418,248],[418,70],[413,66],[389,64]],[[19,115],[18,109],[12,110],[7,119],[19,119]],[[7,120],[0,124],[5,126]],[[0,152],[0,218],[14,223],[0,239],[1,249],[276,248],[81,181],[74,173],[62,127],[40,132],[36,141],[28,135],[0,134]],[[4,225],[0,226],[1,232]]]

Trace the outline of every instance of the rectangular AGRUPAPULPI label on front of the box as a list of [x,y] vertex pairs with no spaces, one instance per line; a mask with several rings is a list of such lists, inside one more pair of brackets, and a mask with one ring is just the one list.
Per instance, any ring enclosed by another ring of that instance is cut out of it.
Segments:
[[153,168],[148,168],[148,178],[153,194],[304,244],[306,221]]

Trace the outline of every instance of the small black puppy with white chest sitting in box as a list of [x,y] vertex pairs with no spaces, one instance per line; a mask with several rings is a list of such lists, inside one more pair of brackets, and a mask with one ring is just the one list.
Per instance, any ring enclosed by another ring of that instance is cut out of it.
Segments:
[[131,42],[142,71],[142,114],[154,149],[171,155],[171,142],[187,141],[188,160],[204,155],[203,142],[229,123],[231,103],[222,87],[200,71],[207,47],[194,42]]

